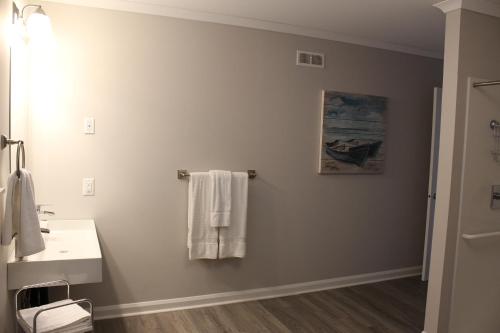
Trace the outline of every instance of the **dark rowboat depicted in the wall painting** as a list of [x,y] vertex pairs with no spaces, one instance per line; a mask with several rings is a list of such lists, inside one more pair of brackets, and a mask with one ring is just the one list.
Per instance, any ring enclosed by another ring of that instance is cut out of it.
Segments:
[[380,140],[335,140],[326,143],[326,153],[341,162],[363,166],[369,157],[375,157],[382,145]]

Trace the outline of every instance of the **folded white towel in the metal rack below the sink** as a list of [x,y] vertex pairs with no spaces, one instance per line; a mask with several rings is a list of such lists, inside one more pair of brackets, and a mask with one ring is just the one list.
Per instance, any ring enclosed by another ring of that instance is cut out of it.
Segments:
[[[42,309],[52,306],[64,305],[72,302],[71,299],[54,302],[39,307],[23,309],[19,313],[23,319],[21,326],[26,332],[33,331],[33,319],[35,314]],[[85,311],[78,304],[71,304],[60,308],[42,312],[36,321],[37,332],[56,333],[56,332],[83,332],[91,324],[90,313]]]

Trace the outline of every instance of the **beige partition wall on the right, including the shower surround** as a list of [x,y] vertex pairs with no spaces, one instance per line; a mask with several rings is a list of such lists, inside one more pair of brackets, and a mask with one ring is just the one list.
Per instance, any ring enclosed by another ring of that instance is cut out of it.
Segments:
[[[468,10],[446,14],[443,113],[436,202],[436,232],[426,333],[497,332],[500,306],[498,241],[465,241],[462,233],[498,230],[489,207],[500,169],[491,156],[491,119],[499,87],[468,91],[468,79],[500,77],[500,18]],[[474,286],[471,288],[471,286]]]

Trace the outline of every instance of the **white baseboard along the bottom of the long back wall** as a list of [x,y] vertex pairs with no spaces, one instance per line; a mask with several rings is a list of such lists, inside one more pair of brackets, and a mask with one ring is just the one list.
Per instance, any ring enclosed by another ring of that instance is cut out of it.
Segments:
[[268,288],[230,291],[217,294],[162,299],[156,301],[98,306],[95,319],[128,317],[149,313],[193,309],[229,303],[247,302],[266,298],[298,295],[320,290],[349,287],[386,280],[420,275],[422,266],[393,269],[382,272],[351,275],[327,280],[287,284]]

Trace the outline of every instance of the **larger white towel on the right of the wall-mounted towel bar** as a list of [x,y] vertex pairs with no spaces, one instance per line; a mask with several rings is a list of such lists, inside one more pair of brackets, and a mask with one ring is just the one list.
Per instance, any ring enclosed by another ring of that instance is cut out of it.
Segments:
[[246,253],[248,173],[233,172],[231,225],[219,228],[219,259],[243,258]]

